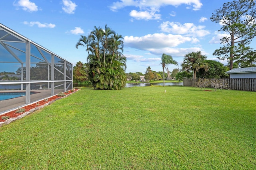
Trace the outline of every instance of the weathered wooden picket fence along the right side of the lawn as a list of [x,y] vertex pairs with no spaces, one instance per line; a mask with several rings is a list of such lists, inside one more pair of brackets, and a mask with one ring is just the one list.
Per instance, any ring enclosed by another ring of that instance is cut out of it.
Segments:
[[[184,86],[196,86],[199,78],[184,78],[183,85]],[[213,80],[222,80],[228,83],[228,87],[231,90],[245,90],[245,91],[254,91],[256,92],[256,78],[207,78],[209,81]],[[212,86],[209,86],[212,88]]]

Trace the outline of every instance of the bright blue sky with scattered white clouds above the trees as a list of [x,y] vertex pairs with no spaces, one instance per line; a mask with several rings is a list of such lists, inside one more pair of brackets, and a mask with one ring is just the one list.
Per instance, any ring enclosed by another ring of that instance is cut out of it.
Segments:
[[148,66],[162,71],[163,53],[179,68],[193,51],[219,61],[212,53],[225,33],[210,17],[225,2],[230,0],[1,0],[0,23],[73,65],[86,63],[85,48],[75,48],[80,35],[107,24],[124,37],[126,72],[144,73]]

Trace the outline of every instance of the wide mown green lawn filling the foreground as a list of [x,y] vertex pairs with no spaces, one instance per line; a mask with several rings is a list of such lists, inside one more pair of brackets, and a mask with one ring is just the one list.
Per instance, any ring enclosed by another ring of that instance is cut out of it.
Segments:
[[82,88],[1,127],[0,169],[254,169],[255,98],[184,86]]

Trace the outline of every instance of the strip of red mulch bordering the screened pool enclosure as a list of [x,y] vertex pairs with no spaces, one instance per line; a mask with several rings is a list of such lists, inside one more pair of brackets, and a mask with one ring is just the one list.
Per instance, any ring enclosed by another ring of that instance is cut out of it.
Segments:
[[[74,89],[73,92],[75,92],[76,90],[78,90],[78,89]],[[67,91],[68,93],[65,92],[65,94],[67,95],[67,94],[73,93],[73,92],[71,92],[71,91],[72,91],[72,90]],[[45,99],[43,99],[43,100],[40,100],[40,101],[38,101],[38,102],[36,102],[36,103],[34,103],[34,104],[30,104],[30,105],[27,105],[27,106],[24,106],[24,107],[20,107],[20,108],[24,108],[25,111],[24,111],[23,113],[25,113],[26,111],[29,111],[30,109],[33,109],[33,108],[38,107],[38,106],[42,106],[42,105],[44,105],[44,104],[46,104],[46,103],[48,103],[48,102],[51,102],[52,100],[55,100],[55,99],[57,99],[57,98],[61,98],[61,97],[55,95],[55,96],[52,96],[52,97],[48,98],[48,101],[45,101]],[[16,110],[17,110],[17,109],[16,109]],[[10,116],[10,118],[12,118],[12,117],[18,117],[19,115],[23,114],[23,113],[15,113],[16,110],[9,111],[9,112],[7,112],[7,113],[5,113],[5,114],[3,114],[3,115],[0,115],[0,117],[2,117],[2,116]],[[0,122],[1,122],[1,121],[6,121],[6,120],[0,118]]]

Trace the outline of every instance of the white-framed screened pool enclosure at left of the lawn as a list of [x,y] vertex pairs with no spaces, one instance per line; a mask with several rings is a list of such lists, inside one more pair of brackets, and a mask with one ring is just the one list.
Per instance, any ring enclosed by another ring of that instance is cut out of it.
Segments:
[[0,113],[71,90],[72,67],[0,23]]

